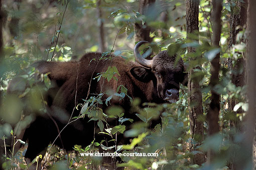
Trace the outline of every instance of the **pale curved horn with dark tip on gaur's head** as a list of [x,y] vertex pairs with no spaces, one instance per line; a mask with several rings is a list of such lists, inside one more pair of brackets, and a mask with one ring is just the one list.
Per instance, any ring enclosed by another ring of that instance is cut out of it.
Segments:
[[[139,52],[139,47],[146,43],[148,41],[146,40],[142,40],[140,42],[138,42],[135,47],[134,47],[134,56],[135,56],[135,60],[137,62],[139,62],[141,65],[145,66],[145,67],[148,67],[148,68],[151,68],[152,67],[152,64],[153,64],[153,59],[149,60],[149,59],[145,59],[144,57],[142,57],[142,55],[140,54]],[[149,55],[148,55],[149,56]],[[146,56],[147,57],[147,56]]]

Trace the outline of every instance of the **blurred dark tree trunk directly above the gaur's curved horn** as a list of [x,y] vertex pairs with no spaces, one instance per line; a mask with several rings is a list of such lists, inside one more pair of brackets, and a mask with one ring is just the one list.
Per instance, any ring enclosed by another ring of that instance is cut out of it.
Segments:
[[[150,5],[153,5],[155,0],[140,0],[139,4],[139,12],[143,15],[149,9]],[[150,37],[150,27],[145,22],[144,25],[142,23],[135,23],[135,41],[147,40],[149,42],[152,41]]]

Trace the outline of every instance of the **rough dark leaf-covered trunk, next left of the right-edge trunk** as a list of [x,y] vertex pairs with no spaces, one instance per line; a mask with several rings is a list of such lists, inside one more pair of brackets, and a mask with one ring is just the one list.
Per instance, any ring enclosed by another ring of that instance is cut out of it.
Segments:
[[[239,31],[241,31],[244,26],[246,25],[246,18],[247,18],[247,0],[244,0],[244,2],[238,1],[236,7],[234,9],[238,9],[238,11],[232,10],[232,13],[230,14],[230,39],[229,39],[229,48],[232,48],[233,44],[236,44],[236,35]],[[237,29],[237,26],[239,28]],[[243,39],[245,42],[245,39]],[[228,59],[227,62],[228,69],[231,70],[231,82],[235,86],[243,86],[245,85],[245,60],[243,58],[238,58],[235,65],[232,64],[232,59]],[[233,108],[235,104],[237,104],[238,101],[236,101],[235,98],[231,98],[228,100],[228,109],[230,112],[233,112]],[[235,128],[236,132],[241,131],[241,123],[239,121],[239,118],[236,116],[237,113],[242,113],[242,109],[238,109],[234,112],[234,118],[230,120],[230,128]],[[234,141],[234,136],[230,134],[230,140]],[[228,163],[228,167],[233,170],[238,170],[237,168],[239,166],[239,162],[237,160],[238,154],[240,151],[233,149],[233,154],[230,159],[230,162]]]

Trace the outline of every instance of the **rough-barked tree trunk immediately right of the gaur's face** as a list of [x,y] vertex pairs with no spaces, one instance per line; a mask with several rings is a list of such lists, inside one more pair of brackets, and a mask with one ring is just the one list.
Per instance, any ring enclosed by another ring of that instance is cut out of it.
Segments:
[[[186,0],[186,30],[187,30],[187,39],[192,41],[198,41],[198,32],[199,32],[199,0]],[[193,36],[190,36],[193,34]],[[196,36],[195,36],[196,35]],[[190,37],[196,37],[196,39],[191,39]],[[196,51],[196,48],[188,47],[188,52],[193,53]],[[197,60],[198,57],[189,57],[189,60]],[[196,67],[200,69],[199,66]],[[192,79],[193,68],[189,69],[188,72],[188,104],[189,104],[189,118],[190,118],[190,131],[192,138],[197,141],[197,144],[190,144],[190,150],[194,150],[194,147],[201,145],[203,141],[203,121],[198,120],[198,117],[203,116],[203,107],[202,107],[202,93],[200,91],[200,77]],[[197,153],[194,156],[193,163],[202,164],[205,162],[205,154]]]

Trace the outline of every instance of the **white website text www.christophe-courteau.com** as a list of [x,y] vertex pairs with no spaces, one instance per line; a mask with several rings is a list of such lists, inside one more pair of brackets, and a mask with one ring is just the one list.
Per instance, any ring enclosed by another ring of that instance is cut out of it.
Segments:
[[110,156],[110,157],[116,157],[116,156],[158,156],[158,153],[117,153],[117,152],[95,152],[95,153],[80,153],[81,156]]

